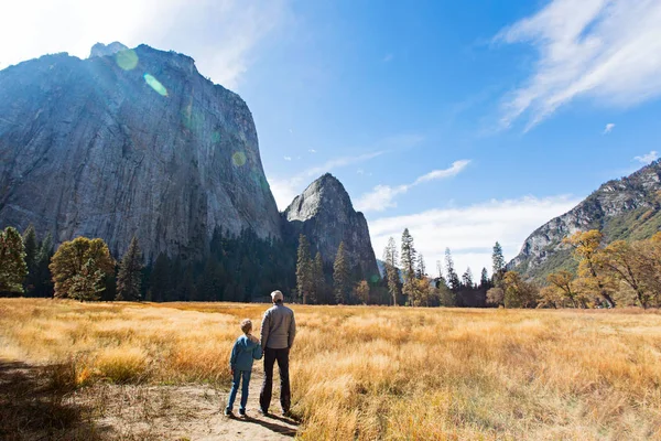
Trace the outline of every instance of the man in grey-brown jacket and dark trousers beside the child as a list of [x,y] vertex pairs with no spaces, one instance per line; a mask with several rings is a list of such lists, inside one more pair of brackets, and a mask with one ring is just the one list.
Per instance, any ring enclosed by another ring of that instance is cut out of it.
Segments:
[[280,291],[271,292],[271,306],[262,320],[261,345],[264,349],[264,383],[259,395],[259,412],[269,413],[273,390],[273,365],[278,361],[280,372],[280,405],[282,413],[289,415],[291,391],[289,383],[289,352],[294,344],[296,322],[294,312],[282,304],[284,297]]

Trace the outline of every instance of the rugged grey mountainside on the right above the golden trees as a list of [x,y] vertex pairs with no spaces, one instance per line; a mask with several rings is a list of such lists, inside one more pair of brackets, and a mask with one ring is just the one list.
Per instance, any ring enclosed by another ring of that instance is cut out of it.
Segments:
[[568,213],[534,230],[508,268],[543,279],[560,268],[575,267],[562,239],[576,232],[599,229],[607,243],[643,239],[661,228],[661,161],[621,180],[603,184]]

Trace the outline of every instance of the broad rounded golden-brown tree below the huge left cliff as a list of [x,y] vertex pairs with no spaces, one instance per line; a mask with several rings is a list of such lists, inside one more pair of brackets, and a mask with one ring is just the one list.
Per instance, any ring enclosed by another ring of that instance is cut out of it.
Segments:
[[101,239],[77,237],[57,248],[50,266],[55,297],[97,300],[102,279],[115,273],[115,260]]

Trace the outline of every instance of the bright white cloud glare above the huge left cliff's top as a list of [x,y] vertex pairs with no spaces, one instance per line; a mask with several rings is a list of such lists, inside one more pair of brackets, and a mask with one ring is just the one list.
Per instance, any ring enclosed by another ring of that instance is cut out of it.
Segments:
[[2,1],[0,63],[56,52],[85,58],[97,42],[145,43],[193,56],[202,75],[234,89],[256,46],[285,17],[281,0]]

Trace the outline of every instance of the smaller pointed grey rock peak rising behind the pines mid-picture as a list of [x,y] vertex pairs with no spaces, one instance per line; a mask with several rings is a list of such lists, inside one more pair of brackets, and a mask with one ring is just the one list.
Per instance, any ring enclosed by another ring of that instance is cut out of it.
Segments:
[[296,196],[283,213],[290,235],[304,234],[313,256],[318,250],[333,263],[344,241],[351,268],[359,267],[366,279],[379,277],[377,259],[369,238],[367,220],[356,212],[342,183],[326,173]]

